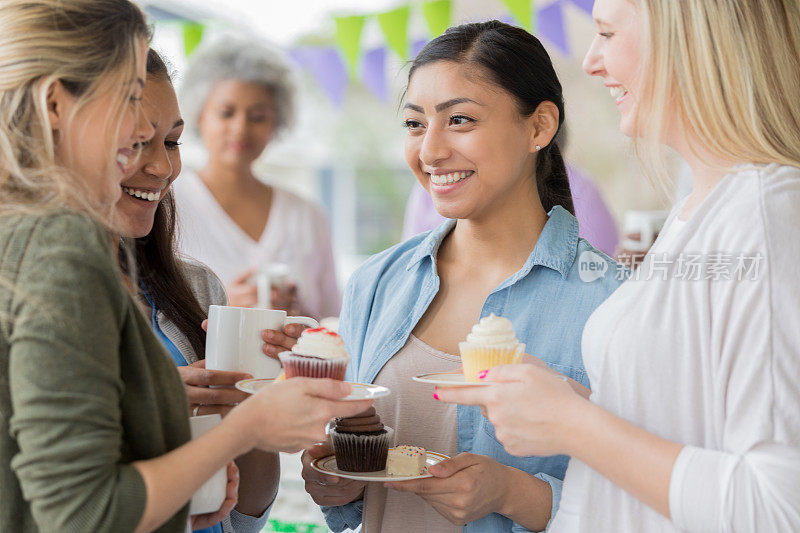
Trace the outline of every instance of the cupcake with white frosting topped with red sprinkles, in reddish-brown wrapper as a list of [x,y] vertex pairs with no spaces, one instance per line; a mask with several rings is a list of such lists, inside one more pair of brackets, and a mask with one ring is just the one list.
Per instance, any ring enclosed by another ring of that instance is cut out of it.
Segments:
[[344,341],[326,328],[303,331],[291,352],[278,354],[287,378],[331,378],[344,380],[350,356]]

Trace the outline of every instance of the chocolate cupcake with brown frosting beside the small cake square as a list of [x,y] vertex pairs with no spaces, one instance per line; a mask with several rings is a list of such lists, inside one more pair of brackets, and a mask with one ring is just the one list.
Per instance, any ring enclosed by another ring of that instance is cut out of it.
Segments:
[[331,429],[336,466],[345,472],[377,472],[386,468],[394,430],[381,423],[370,407],[349,418],[337,418]]

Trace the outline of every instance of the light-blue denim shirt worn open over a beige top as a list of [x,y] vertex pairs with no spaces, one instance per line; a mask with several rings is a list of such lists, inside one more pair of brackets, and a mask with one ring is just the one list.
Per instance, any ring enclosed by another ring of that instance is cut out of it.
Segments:
[[[621,283],[614,275],[619,266],[579,239],[578,221],[568,211],[556,206],[548,215],[525,264],[489,294],[480,316],[494,313],[508,318],[527,353],[588,387],[581,359],[583,326],[592,311]],[[353,274],[345,290],[339,325],[352,358],[348,381],[371,383],[405,345],[439,290],[436,254],[454,227],[454,220],[445,221],[431,232],[371,257]],[[586,266],[585,259],[594,261],[593,270],[599,266],[605,275],[582,281],[580,268],[582,264]],[[512,456],[495,438],[494,428],[481,415],[480,408],[459,405],[457,413],[458,452],[485,455],[546,481],[552,488],[551,516],[555,516],[569,458]],[[361,500],[322,508],[328,526],[335,532],[357,529],[362,509]],[[470,522],[463,531],[528,530],[494,513]]]

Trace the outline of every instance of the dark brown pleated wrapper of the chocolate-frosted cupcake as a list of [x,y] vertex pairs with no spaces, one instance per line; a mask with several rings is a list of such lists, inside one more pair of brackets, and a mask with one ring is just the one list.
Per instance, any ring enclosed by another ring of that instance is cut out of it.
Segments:
[[359,435],[338,433],[331,429],[336,466],[345,472],[378,472],[386,468],[386,456],[394,443],[394,430],[384,426],[386,433]]

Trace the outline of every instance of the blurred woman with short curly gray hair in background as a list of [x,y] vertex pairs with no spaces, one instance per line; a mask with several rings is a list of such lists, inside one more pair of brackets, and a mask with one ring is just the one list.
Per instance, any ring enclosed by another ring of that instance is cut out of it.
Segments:
[[197,51],[180,91],[190,128],[208,152],[175,186],[181,251],[211,267],[230,305],[256,305],[253,274],[288,265],[296,286],[272,292],[272,307],[317,318],[339,314],[328,221],[314,204],[266,185],[253,164],[293,116],[291,72],[252,41],[227,39]]

